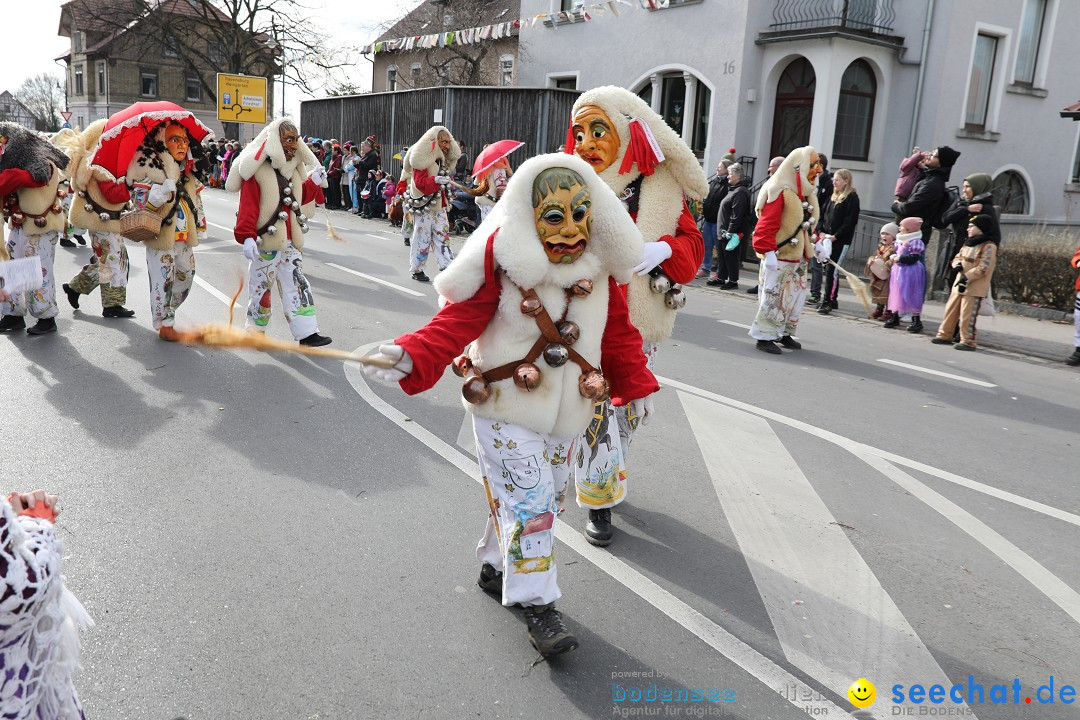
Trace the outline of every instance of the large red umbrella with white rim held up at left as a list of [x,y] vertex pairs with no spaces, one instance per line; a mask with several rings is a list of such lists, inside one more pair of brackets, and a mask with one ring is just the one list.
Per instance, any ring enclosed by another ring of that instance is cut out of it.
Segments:
[[123,177],[146,136],[170,121],[183,125],[195,142],[210,134],[210,128],[190,110],[175,103],[136,103],[109,118],[91,164],[109,172],[113,179]]

